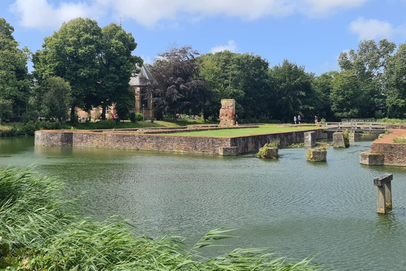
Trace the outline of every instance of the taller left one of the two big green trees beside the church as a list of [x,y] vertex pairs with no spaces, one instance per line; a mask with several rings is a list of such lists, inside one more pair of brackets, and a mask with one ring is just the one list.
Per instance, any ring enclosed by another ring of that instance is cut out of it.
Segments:
[[98,55],[101,29],[91,19],[76,18],[63,23],[57,32],[44,39],[43,49],[32,57],[35,76],[40,81],[59,76],[72,88],[71,115],[75,107],[89,109],[99,80]]

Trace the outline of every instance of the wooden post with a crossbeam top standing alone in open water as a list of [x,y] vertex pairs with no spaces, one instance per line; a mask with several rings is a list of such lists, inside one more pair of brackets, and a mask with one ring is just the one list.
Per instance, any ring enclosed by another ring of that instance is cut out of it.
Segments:
[[374,178],[374,185],[377,186],[378,213],[386,214],[388,209],[392,209],[392,173],[386,173]]

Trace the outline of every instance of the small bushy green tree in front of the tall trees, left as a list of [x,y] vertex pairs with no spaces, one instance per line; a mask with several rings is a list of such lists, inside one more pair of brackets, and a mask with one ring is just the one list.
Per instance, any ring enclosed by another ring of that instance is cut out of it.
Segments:
[[42,113],[47,117],[55,117],[60,122],[64,122],[72,103],[72,91],[69,82],[60,77],[49,77],[44,84]]

